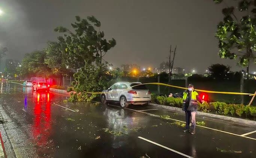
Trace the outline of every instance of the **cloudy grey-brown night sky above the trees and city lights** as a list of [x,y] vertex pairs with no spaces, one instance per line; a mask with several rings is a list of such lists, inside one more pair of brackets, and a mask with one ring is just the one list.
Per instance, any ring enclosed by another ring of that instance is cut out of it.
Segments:
[[[158,67],[167,61],[170,44],[177,45],[174,66],[205,72],[212,63],[241,68],[218,56],[216,26],[223,5],[213,0],[1,0],[0,45],[9,49],[5,59],[21,60],[25,53],[41,50],[60,35],[57,26],[71,28],[75,16],[94,15],[106,39],[117,45],[104,59],[121,66]],[[2,66],[1,66],[2,67]],[[256,66],[250,66],[250,72]]]

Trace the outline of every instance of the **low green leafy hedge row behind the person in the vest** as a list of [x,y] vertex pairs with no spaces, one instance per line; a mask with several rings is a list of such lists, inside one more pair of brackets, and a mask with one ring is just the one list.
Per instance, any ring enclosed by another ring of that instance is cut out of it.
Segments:
[[[152,103],[182,108],[183,99],[152,94]],[[216,113],[220,115],[231,115],[244,118],[256,116],[256,106],[245,106],[243,104],[227,104],[225,102],[198,102],[198,111]]]

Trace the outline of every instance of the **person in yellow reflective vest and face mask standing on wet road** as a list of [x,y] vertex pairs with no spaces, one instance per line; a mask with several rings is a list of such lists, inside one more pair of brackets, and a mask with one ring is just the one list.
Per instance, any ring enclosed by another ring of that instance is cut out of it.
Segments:
[[[186,129],[184,130],[184,132],[190,132],[191,134],[195,134],[195,126],[196,126],[195,115],[198,109],[197,100],[199,102],[204,102],[204,100],[202,100],[198,95],[198,93],[194,90],[194,86],[192,84],[189,84],[188,90],[185,90],[183,92],[182,110],[186,114]],[[192,123],[191,130],[189,129],[190,119]]]

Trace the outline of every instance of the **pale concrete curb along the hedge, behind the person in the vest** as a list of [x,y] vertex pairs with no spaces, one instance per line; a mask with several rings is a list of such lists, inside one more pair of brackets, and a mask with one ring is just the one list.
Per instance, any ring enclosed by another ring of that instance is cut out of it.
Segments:
[[[153,106],[155,108],[162,108],[162,109],[167,109],[167,110],[176,111],[176,112],[183,112],[182,108],[176,108],[176,107],[173,107],[173,106],[159,105],[159,104],[153,104],[153,103],[149,103],[149,105]],[[237,124],[242,124],[242,125],[249,125],[249,126],[256,126],[256,121],[252,121],[252,120],[245,120],[245,119],[242,119],[242,118],[235,118],[235,117],[228,117],[228,116],[217,115],[217,114],[210,114],[210,113],[201,112],[201,111],[196,111],[196,114],[200,115],[200,116],[205,116],[205,117],[217,118],[217,119],[229,121],[229,122],[232,122],[232,123],[237,123]]]

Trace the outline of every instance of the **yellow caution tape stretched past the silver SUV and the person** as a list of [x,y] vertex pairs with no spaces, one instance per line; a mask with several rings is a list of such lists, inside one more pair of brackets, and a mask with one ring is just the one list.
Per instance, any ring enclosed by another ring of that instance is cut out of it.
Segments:
[[[188,88],[185,88],[185,87],[179,87],[179,86],[173,86],[173,85],[170,85],[170,84],[164,84],[164,83],[142,83],[142,84],[137,84],[135,86],[140,86],[140,85],[144,85],[144,84],[155,84],[155,85],[161,85],[161,86],[168,86],[168,87],[174,87],[174,88],[178,88],[178,89],[188,89]],[[135,87],[135,86],[132,86],[132,87]],[[131,88],[132,88],[131,87]],[[129,89],[129,88],[128,88]],[[125,90],[128,90],[128,89],[125,89]],[[249,96],[253,96],[254,94],[252,93],[238,93],[238,92],[217,92],[217,91],[210,91],[210,90],[200,90],[200,89],[195,89],[196,91],[199,91],[199,92],[206,92],[206,93],[219,93],[219,94],[228,94],[228,95],[249,95]],[[85,92],[85,91],[83,91]],[[104,92],[85,92],[85,93],[88,93],[88,94],[104,94]],[[106,93],[106,92],[105,92]]]

